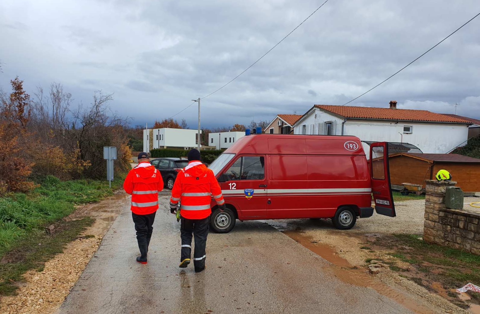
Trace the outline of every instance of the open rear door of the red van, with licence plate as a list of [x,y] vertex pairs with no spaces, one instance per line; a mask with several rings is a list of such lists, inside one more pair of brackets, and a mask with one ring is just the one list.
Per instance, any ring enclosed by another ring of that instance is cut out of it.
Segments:
[[390,169],[388,168],[387,142],[370,145],[370,176],[375,211],[380,215],[395,217],[395,205],[390,186]]

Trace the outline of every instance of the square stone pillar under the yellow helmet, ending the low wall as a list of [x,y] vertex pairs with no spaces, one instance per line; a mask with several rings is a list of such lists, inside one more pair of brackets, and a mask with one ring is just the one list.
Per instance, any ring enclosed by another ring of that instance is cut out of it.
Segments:
[[[423,225],[423,240],[430,243],[445,245],[445,233],[450,232],[450,226],[440,223],[440,212],[445,207],[445,191],[447,186],[455,186],[456,181],[426,180],[425,222]],[[442,214],[443,215],[443,214]]]

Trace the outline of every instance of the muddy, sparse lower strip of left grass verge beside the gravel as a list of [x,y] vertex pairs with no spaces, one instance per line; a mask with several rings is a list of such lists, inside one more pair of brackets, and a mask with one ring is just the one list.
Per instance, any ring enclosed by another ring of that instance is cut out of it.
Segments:
[[36,231],[17,242],[14,249],[4,255],[6,263],[0,263],[0,295],[14,294],[17,289],[14,283],[22,281],[26,271],[42,271],[46,261],[61,253],[67,243],[75,240],[93,222],[94,219],[89,217],[62,221],[54,234]]

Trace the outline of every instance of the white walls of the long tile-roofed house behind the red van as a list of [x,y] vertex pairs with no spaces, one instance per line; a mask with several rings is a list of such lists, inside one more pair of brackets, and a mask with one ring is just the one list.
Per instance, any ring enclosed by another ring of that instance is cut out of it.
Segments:
[[[306,134],[326,134],[325,122],[330,121],[334,125],[332,135],[341,135],[344,120],[317,108],[295,124],[294,134],[302,134],[303,126]],[[411,127],[411,133],[404,132],[405,126]],[[319,129],[323,133],[319,133]],[[445,154],[456,146],[465,145],[468,125],[347,120],[343,134],[357,136],[362,141],[409,143],[423,153]]]

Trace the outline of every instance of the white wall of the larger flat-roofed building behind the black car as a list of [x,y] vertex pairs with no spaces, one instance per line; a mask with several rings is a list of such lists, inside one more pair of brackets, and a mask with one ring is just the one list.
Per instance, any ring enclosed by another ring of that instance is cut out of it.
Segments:
[[197,130],[190,129],[153,129],[153,148],[197,147],[197,133]]

